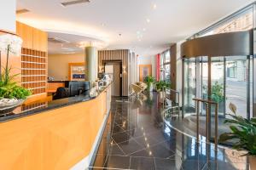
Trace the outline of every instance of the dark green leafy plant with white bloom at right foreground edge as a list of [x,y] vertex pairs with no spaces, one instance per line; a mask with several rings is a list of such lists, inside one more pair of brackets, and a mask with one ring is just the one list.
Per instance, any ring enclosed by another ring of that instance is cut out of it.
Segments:
[[233,119],[226,119],[224,123],[230,124],[231,133],[222,133],[219,142],[235,139],[234,149],[247,150],[247,155],[256,156],[256,118],[247,120],[242,116],[237,116],[236,105],[232,103],[230,103],[230,111],[232,114],[228,115]]

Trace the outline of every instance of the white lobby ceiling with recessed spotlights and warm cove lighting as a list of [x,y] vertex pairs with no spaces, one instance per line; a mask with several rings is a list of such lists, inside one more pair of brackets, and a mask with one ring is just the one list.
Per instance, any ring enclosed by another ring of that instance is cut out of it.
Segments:
[[179,42],[253,2],[90,0],[90,3],[63,8],[60,3],[66,1],[17,0],[18,9],[30,10],[18,14],[17,20],[45,31],[102,40],[108,43],[109,49],[129,48],[142,56],[160,53],[172,42]]

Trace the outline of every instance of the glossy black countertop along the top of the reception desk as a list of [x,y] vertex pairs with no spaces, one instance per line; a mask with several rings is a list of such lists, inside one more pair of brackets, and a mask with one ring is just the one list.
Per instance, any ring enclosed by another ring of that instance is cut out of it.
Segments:
[[[107,87],[108,88],[108,87]],[[106,88],[102,88],[102,90],[96,95],[99,96]],[[89,95],[79,95],[75,97],[65,98],[65,99],[57,99],[52,101],[38,101],[33,102],[32,104],[22,105],[22,108],[26,108],[27,111],[20,111],[20,108],[16,109],[13,113],[9,115],[0,115],[0,123],[1,122],[8,122],[11,120],[19,119],[25,116],[32,116],[44,111],[54,110],[61,107],[65,107],[67,105],[74,105],[80,102],[88,101],[91,99],[96,99],[96,97],[90,97]],[[36,109],[29,109],[30,105],[38,105]]]

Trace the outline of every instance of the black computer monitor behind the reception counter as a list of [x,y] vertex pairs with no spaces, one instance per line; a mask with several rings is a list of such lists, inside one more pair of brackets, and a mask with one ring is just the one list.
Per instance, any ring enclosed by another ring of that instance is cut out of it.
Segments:
[[69,82],[68,88],[70,97],[90,94],[90,82]]

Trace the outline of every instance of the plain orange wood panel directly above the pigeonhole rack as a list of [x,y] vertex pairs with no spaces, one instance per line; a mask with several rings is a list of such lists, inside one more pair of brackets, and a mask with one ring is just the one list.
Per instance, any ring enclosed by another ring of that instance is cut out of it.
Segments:
[[22,48],[33,49],[37,51],[47,52],[48,35],[47,32],[27,26],[26,24],[16,23],[16,32],[22,38]]

